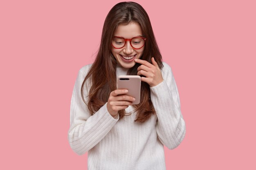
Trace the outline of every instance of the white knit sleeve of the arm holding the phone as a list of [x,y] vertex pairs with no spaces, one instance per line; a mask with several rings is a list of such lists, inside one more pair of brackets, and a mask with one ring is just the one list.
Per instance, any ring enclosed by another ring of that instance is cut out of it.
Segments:
[[[85,68],[85,69],[84,69]],[[94,115],[90,114],[88,106],[81,97],[81,86],[85,78],[88,65],[79,70],[74,84],[70,105],[70,128],[68,130],[68,141],[74,152],[83,155],[103,139],[111,128],[117,123],[119,115],[112,117],[104,104]],[[84,99],[88,104],[88,80],[83,88]]]

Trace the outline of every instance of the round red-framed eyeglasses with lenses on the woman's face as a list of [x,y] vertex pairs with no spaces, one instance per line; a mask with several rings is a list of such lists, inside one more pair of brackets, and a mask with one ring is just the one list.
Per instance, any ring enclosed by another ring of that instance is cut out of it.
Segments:
[[130,41],[130,45],[133,49],[140,49],[144,46],[147,38],[133,37],[132,39],[125,39],[124,37],[114,36],[111,40],[111,44],[115,49],[121,49],[125,46],[126,41]]

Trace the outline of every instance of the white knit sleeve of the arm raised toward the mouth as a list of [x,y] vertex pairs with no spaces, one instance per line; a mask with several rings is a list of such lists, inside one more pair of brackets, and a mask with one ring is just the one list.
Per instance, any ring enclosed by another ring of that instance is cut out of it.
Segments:
[[186,126],[180,111],[180,97],[173,72],[166,63],[162,76],[163,82],[150,87],[150,97],[157,114],[157,136],[168,149],[174,149],[184,139]]

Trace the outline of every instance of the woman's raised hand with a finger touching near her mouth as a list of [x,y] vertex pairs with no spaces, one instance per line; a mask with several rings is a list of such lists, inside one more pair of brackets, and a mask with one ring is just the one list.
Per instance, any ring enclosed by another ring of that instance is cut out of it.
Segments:
[[137,75],[146,76],[146,77],[141,77],[141,81],[148,83],[150,87],[154,87],[162,83],[164,79],[162,77],[160,68],[157,65],[157,62],[155,62],[154,57],[151,58],[151,61],[153,64],[150,64],[146,60],[140,60],[140,59],[137,59],[137,61],[135,62],[141,64],[141,66],[137,68],[137,71],[138,71]]

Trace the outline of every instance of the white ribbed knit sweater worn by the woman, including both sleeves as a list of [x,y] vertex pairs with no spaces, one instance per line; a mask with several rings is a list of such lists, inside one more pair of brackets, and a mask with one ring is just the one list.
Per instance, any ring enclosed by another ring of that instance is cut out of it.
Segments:
[[[163,144],[169,149],[179,146],[186,128],[173,72],[167,63],[163,64],[164,81],[150,87],[156,115],[144,124],[134,122],[132,106],[126,108],[132,115],[120,120],[119,115],[115,119],[108,113],[107,103],[91,116],[81,98],[81,85],[92,64],[79,70],[71,99],[68,140],[78,155],[88,151],[88,170],[166,170]],[[117,76],[127,71],[117,66]],[[90,85],[85,85],[88,102]]]

